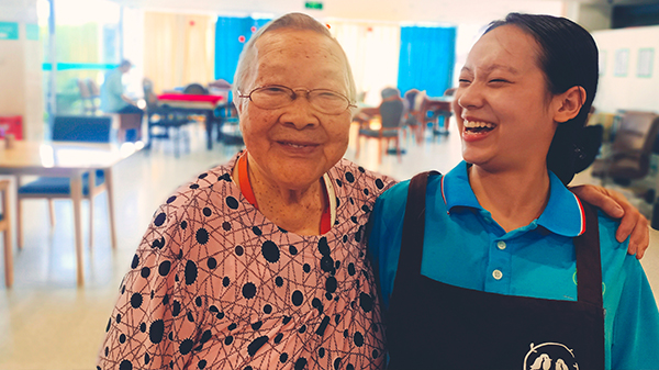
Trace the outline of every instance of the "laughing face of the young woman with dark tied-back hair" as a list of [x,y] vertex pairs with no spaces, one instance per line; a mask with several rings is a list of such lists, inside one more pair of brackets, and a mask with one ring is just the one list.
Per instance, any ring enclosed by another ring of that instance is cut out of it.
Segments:
[[472,47],[454,100],[466,161],[491,170],[545,165],[559,99],[548,91],[538,51],[514,25],[488,32]]

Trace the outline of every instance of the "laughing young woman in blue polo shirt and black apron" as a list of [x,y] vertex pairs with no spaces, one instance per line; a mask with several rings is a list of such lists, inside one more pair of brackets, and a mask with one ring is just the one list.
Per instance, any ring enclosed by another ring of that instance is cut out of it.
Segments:
[[460,71],[463,161],[384,192],[369,250],[391,369],[659,369],[659,312],[617,221],[566,184],[599,145],[592,36],[511,13]]

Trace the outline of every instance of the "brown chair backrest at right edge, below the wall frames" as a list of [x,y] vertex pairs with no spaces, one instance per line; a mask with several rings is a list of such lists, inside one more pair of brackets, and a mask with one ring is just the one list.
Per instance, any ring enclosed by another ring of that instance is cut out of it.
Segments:
[[621,117],[612,150],[615,155],[649,156],[659,133],[659,115],[626,111]]

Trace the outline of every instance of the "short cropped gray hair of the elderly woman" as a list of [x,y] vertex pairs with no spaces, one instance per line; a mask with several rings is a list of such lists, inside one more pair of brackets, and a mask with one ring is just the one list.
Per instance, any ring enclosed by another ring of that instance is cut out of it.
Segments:
[[284,14],[276,20],[268,22],[266,25],[260,27],[256,33],[252,35],[252,38],[249,38],[249,41],[243,47],[241,58],[238,59],[238,67],[236,68],[232,90],[234,101],[238,97],[238,91],[243,93],[248,92],[245,91],[245,89],[249,86],[249,83],[253,82],[248,81],[248,78],[256,78],[256,76],[250,76],[250,74],[254,72],[254,68],[256,66],[256,48],[254,47],[256,41],[266,32],[271,32],[279,29],[313,31],[321,35],[330,37],[336,43],[346,63],[348,74],[348,99],[350,100],[350,103],[354,104],[357,97],[357,88],[355,87],[355,78],[353,77],[353,70],[350,69],[350,64],[348,63],[346,53],[344,52],[343,47],[340,47],[340,44],[336,41],[336,38],[332,37],[332,34],[330,33],[330,30],[327,30],[327,26],[303,13]]

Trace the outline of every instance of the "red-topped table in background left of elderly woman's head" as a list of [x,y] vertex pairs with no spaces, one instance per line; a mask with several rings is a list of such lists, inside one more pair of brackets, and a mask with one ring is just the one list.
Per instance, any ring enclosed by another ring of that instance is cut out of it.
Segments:
[[[158,105],[169,106],[176,110],[180,110],[187,114],[200,114],[205,116],[205,131],[206,131],[206,147],[208,149],[213,148],[213,123],[215,117],[213,111],[224,100],[223,96],[211,96],[211,94],[191,94],[191,93],[164,93],[158,96]],[[150,132],[150,131],[149,131]],[[220,138],[221,131],[217,130],[217,136]]]

